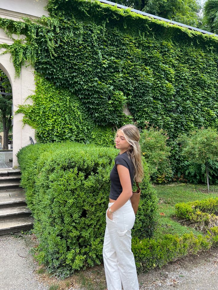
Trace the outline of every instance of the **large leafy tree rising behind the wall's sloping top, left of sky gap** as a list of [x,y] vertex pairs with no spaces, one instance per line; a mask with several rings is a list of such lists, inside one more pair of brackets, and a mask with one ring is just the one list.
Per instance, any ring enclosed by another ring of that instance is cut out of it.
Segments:
[[117,3],[195,27],[201,9],[199,0],[118,0]]

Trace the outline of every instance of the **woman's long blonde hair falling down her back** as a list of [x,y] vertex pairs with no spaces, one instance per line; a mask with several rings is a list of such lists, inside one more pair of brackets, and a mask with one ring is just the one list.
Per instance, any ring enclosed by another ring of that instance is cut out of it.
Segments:
[[127,153],[131,156],[134,165],[134,180],[136,182],[142,182],[144,171],[142,167],[142,156],[139,145],[140,133],[135,125],[127,124],[122,126],[117,132],[121,130],[126,138],[126,141],[131,145],[127,148]]

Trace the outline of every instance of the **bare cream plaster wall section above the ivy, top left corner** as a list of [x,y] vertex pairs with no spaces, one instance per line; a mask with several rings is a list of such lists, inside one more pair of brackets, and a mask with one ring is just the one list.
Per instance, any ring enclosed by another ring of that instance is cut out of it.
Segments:
[[[41,17],[48,16],[48,12],[44,10],[47,0],[1,0],[0,9],[5,9],[22,14]],[[12,13],[13,14],[13,13]]]

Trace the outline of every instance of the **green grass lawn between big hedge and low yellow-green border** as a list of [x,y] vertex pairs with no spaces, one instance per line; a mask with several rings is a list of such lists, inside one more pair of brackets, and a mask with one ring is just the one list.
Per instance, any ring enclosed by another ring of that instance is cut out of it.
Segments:
[[[210,192],[207,193],[207,185],[172,183],[164,185],[154,185],[158,202],[158,227],[155,236],[161,238],[163,234],[178,234],[182,236],[185,233],[193,232],[194,235],[202,234],[200,231],[187,226],[183,226],[175,219],[175,204],[179,202],[189,202],[202,200],[209,197],[218,197],[218,185],[211,185]],[[160,213],[164,213],[161,216]]]

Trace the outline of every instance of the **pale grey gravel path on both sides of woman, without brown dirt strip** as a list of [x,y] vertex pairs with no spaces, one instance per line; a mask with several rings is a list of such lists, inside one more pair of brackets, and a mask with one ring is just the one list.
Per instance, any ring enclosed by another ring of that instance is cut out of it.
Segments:
[[[0,236],[0,290],[49,289],[46,281],[41,283],[41,276],[35,272],[37,264],[28,253],[33,244],[28,235]],[[103,267],[98,267],[104,279]],[[161,270],[152,270],[138,278],[140,290],[217,290],[217,275],[218,249],[214,249],[170,263]],[[82,290],[74,287],[70,289]]]

